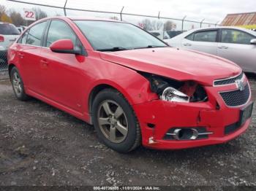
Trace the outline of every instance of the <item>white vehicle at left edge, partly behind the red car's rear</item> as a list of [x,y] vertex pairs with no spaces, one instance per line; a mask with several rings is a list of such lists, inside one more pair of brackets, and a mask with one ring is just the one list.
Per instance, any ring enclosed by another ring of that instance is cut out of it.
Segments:
[[11,23],[0,23],[0,63],[7,64],[7,49],[20,35],[20,31]]

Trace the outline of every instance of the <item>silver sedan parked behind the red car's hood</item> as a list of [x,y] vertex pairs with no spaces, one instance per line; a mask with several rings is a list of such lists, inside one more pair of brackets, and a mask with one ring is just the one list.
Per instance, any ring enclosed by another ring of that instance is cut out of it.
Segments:
[[256,74],[256,32],[244,28],[199,28],[166,39],[172,47],[206,52],[237,63]]

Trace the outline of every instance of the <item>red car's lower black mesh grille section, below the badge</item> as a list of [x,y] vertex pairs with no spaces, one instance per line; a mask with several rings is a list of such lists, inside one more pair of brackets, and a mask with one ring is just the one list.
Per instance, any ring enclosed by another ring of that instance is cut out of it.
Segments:
[[219,93],[227,106],[241,106],[246,104],[250,97],[250,90],[248,83],[244,90],[233,90],[229,92]]

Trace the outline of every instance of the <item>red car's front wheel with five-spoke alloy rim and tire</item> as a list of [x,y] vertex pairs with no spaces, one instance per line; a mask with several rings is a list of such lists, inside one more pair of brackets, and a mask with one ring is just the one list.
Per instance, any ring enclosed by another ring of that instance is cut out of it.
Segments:
[[140,125],[135,112],[117,90],[105,89],[96,95],[92,120],[99,140],[111,149],[125,153],[140,146]]

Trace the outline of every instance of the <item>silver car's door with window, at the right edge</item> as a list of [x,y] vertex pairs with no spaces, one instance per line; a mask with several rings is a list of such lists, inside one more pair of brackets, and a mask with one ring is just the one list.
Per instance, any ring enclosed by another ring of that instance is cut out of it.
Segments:
[[250,44],[255,38],[244,31],[222,28],[217,54],[237,63],[244,71],[256,72],[256,45]]

